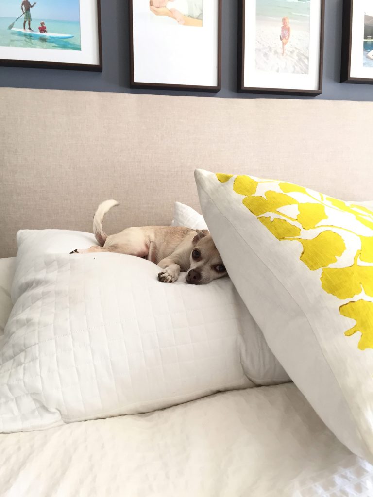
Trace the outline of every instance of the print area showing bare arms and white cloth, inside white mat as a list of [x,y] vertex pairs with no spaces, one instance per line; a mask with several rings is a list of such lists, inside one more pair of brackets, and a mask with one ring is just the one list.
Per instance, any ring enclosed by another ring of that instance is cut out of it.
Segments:
[[153,14],[173,19],[181,26],[202,27],[203,0],[150,0]]

